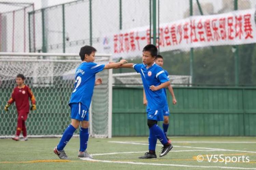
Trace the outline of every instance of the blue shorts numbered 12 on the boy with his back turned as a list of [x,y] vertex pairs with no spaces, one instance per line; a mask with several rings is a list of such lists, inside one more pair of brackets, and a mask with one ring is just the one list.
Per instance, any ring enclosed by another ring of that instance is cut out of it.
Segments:
[[82,103],[70,103],[71,119],[89,121],[89,110]]

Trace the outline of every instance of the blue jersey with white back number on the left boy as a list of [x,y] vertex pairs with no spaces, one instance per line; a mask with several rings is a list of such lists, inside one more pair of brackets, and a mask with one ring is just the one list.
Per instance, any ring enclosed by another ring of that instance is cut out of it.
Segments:
[[82,62],[75,72],[75,84],[72,91],[69,105],[71,103],[82,103],[89,109],[91,97],[95,85],[96,73],[102,71],[105,65]]

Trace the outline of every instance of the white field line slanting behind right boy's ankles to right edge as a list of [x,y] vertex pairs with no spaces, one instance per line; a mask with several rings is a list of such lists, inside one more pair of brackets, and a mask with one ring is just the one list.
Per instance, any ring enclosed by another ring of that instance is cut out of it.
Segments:
[[[148,145],[147,143],[136,143],[136,142],[123,142],[123,141],[109,141],[110,143],[124,143],[124,144],[133,144],[133,145]],[[158,145],[157,146],[162,146]],[[187,146],[174,146],[180,148],[195,148],[195,149],[208,149],[208,150],[216,150],[216,151],[231,151],[231,152],[246,152],[246,153],[256,153],[254,151],[241,151],[241,150],[230,150],[230,149],[220,149],[220,148],[205,148],[205,147],[187,147]]]

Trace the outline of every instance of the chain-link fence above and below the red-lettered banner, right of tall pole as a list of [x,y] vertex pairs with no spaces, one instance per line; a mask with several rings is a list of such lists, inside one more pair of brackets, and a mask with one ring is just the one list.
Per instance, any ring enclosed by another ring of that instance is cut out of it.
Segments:
[[[179,1],[175,5],[160,0],[160,22],[169,18],[183,19],[189,15],[214,15],[255,8],[255,0],[191,0]],[[190,7],[192,10],[190,10]],[[176,13],[179,8],[179,13]],[[228,32],[228,28],[226,28]],[[235,30],[234,30],[235,31]],[[161,49],[160,49],[161,50]],[[182,48],[161,53],[165,57],[164,68],[170,74],[193,75],[196,85],[255,85],[256,46],[210,46],[191,49]],[[238,64],[236,65],[236,60]],[[192,66],[192,70],[190,70]],[[191,73],[192,71],[192,73]],[[238,81],[238,82],[236,82]]]

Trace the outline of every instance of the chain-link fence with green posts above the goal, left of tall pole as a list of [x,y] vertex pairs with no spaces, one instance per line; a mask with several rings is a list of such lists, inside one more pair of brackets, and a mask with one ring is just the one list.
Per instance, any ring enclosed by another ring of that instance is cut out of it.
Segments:
[[106,35],[149,26],[149,20],[148,0],[78,0],[43,8],[29,13],[29,49],[77,52],[88,44],[101,49],[101,39]]

